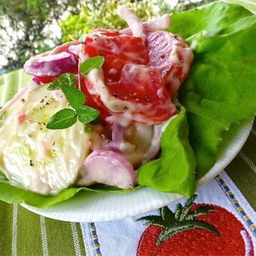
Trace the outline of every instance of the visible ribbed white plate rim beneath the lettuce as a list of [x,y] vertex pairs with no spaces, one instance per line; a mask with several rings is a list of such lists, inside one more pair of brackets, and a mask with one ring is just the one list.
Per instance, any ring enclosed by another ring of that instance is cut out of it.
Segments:
[[[243,147],[252,129],[252,122],[240,125],[239,129],[230,132],[225,147],[221,150],[217,163],[202,179],[198,187],[209,182],[220,173]],[[162,193],[150,188],[140,188],[129,193],[79,193],[73,198],[52,205],[47,209],[38,209],[30,205],[21,204],[29,211],[56,220],[63,221],[109,221],[135,216],[152,211],[178,200],[180,195]]]

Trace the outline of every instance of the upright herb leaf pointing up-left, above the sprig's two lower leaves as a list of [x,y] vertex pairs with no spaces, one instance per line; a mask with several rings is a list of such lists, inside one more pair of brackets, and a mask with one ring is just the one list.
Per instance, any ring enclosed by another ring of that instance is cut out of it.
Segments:
[[76,109],[84,104],[84,94],[79,89],[70,85],[61,85],[60,88],[72,108]]

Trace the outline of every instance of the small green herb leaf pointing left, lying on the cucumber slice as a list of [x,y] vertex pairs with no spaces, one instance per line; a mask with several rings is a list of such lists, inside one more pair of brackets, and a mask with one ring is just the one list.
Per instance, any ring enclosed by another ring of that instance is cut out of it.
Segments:
[[46,128],[51,130],[66,129],[76,124],[76,121],[76,112],[73,109],[65,108],[61,109],[50,118]]

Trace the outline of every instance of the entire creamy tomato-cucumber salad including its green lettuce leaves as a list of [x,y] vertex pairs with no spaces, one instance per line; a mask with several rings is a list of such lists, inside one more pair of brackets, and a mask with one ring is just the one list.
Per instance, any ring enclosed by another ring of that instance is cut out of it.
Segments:
[[0,199],[47,207],[140,186],[190,196],[225,136],[255,115],[248,10],[217,2],[172,24],[126,6],[118,15],[128,28],[95,29],[24,65],[31,80],[0,109]]

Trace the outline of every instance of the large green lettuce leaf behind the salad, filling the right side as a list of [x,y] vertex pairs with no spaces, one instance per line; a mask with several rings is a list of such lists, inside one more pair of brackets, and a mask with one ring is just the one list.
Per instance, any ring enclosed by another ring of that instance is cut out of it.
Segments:
[[174,13],[170,31],[182,35],[195,54],[179,100],[200,179],[216,162],[228,131],[256,113],[256,16],[217,2]]

